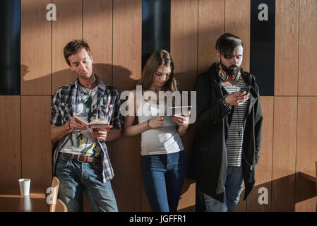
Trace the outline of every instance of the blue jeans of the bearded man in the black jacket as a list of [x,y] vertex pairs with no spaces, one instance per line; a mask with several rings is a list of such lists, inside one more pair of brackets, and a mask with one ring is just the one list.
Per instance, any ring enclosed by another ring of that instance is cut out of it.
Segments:
[[228,166],[225,182],[224,203],[203,194],[206,212],[235,212],[244,186],[242,167]]

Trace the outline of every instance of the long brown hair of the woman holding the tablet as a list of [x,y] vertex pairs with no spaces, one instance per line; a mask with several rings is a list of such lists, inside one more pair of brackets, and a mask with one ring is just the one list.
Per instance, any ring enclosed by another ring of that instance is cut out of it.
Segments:
[[156,70],[160,66],[170,66],[171,73],[169,74],[169,80],[164,84],[164,91],[171,91],[172,93],[177,90],[177,80],[175,79],[174,62],[171,55],[164,49],[160,49],[157,52],[152,53],[148,61],[143,68],[142,76],[137,85],[142,85],[143,90],[148,90],[154,81]]

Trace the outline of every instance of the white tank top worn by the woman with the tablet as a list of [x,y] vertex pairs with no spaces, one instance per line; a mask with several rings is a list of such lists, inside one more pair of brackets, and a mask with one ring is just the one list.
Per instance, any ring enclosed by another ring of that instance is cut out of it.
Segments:
[[[139,124],[143,123],[143,121],[148,121],[148,119],[154,119],[159,115],[164,115],[163,105],[146,102],[142,93],[140,93],[140,97],[142,97],[142,100],[138,101],[140,104],[136,110]],[[150,115],[146,116],[143,114],[144,111],[142,109],[147,109]],[[148,129],[141,134],[141,155],[162,155],[177,153],[181,150],[184,150],[184,146],[179,133],[177,133],[176,126]]]

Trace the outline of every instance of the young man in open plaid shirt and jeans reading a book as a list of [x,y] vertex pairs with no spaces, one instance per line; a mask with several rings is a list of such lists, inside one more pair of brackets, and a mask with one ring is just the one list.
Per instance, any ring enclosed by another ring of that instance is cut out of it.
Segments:
[[[51,140],[59,141],[53,163],[60,181],[59,198],[68,211],[82,211],[85,191],[93,211],[118,211],[105,141],[121,136],[119,93],[92,73],[92,56],[85,40],[68,42],[64,57],[78,79],[62,85],[52,100]],[[108,131],[94,131],[89,139],[80,133],[85,127],[75,121],[76,115],[88,122],[106,117],[111,126]]]

